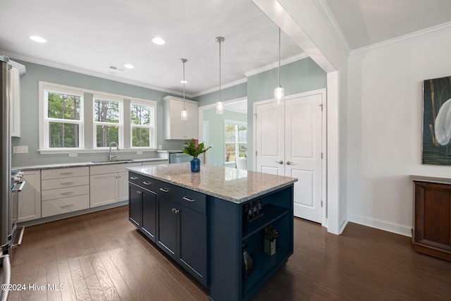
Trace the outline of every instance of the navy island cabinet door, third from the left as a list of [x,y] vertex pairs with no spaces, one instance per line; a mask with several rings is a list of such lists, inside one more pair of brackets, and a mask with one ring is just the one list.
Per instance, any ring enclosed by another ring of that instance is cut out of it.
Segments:
[[161,249],[175,259],[177,247],[176,204],[171,199],[158,196],[158,242]]

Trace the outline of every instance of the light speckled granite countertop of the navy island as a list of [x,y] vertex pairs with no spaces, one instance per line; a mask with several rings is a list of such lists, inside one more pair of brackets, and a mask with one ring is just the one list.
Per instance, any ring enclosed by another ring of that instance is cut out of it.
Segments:
[[189,162],[128,167],[127,169],[143,176],[226,199],[236,204],[265,195],[297,181],[297,178],[206,164],[201,164],[199,173],[192,173]]

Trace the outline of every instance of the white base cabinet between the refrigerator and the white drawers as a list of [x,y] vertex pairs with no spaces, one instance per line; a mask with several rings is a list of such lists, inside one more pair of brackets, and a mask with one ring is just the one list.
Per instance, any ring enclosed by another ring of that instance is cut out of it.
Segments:
[[18,223],[41,218],[41,171],[25,171],[19,193]]

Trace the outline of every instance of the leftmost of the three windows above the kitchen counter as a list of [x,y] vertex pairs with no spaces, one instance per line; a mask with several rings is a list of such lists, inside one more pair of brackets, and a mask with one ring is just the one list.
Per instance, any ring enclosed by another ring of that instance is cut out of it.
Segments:
[[83,147],[83,93],[44,86],[45,149],[80,149]]

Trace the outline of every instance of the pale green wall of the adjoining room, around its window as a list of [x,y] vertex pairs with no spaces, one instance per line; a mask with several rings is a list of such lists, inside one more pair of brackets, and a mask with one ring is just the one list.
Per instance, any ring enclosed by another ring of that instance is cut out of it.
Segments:
[[[223,115],[216,115],[216,108],[204,110],[204,121],[209,122],[209,145],[213,147],[206,153],[206,163],[223,166],[226,158],[224,154],[224,121],[247,122],[247,115],[235,111],[224,111]],[[205,138],[204,138],[205,140]],[[231,164],[235,167],[235,163]]]

